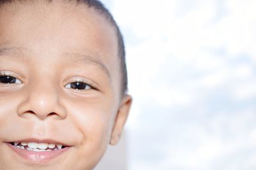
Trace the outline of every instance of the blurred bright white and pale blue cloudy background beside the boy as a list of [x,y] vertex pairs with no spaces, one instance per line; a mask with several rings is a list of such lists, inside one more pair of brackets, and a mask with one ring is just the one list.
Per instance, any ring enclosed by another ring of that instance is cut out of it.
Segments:
[[[104,0],[134,102],[104,170],[256,169],[256,1]],[[115,155],[115,156],[113,156]]]

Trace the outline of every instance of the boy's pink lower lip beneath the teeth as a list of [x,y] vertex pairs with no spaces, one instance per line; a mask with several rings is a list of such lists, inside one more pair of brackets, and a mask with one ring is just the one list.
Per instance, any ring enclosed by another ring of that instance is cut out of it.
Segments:
[[70,147],[66,147],[66,148],[63,148],[60,150],[54,150],[54,151],[33,152],[29,150],[22,150],[20,148],[17,148],[16,146],[11,145],[10,143],[8,143],[8,146],[10,146],[10,148],[12,148],[14,152],[18,153],[20,157],[33,163],[48,162],[60,156],[62,153],[67,152],[67,150],[70,148]]

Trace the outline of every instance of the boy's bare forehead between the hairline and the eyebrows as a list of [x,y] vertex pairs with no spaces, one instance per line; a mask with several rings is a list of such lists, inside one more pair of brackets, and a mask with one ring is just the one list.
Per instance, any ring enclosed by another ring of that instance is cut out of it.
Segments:
[[[63,53],[89,56],[120,81],[114,27],[93,8],[75,1],[35,1],[0,8],[0,47],[28,49],[39,59]],[[70,57],[71,59],[71,57]],[[116,70],[118,69],[118,70]]]

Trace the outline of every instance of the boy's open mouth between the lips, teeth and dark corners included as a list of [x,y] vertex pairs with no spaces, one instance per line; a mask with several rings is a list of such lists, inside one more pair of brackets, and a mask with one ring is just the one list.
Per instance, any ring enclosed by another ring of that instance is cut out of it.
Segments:
[[22,150],[29,150],[33,152],[49,152],[66,148],[66,146],[55,143],[11,142],[10,144]]

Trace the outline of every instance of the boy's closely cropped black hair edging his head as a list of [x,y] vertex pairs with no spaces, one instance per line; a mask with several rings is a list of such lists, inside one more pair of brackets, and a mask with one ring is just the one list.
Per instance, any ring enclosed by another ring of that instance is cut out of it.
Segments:
[[[13,3],[15,0],[0,0],[0,4],[5,3]],[[16,0],[16,1],[29,1],[29,0]],[[30,0],[33,1],[33,0]],[[45,0],[51,3],[53,0]],[[124,46],[124,38],[122,36],[122,32],[120,31],[118,25],[116,24],[113,15],[109,12],[109,10],[98,0],[68,0],[68,1],[76,1],[77,3],[84,3],[88,6],[88,8],[93,8],[100,15],[106,18],[111,25],[115,28],[117,41],[118,41],[118,57],[120,57],[120,66],[121,66],[121,74],[122,74],[122,93],[125,94],[127,92],[127,67],[125,62],[125,46]]]

